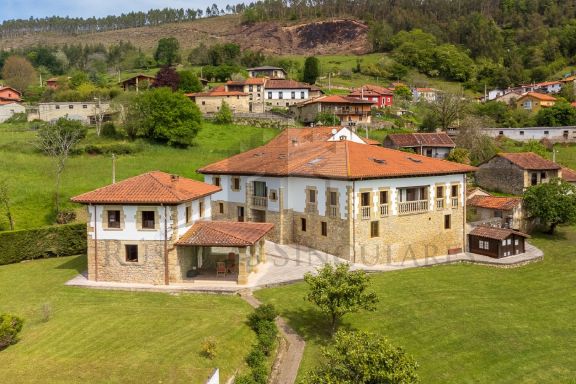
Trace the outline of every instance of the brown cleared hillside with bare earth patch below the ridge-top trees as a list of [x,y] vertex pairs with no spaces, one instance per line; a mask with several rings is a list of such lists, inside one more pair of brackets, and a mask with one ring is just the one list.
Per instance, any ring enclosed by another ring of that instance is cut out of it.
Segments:
[[241,25],[239,16],[222,16],[156,27],[129,28],[81,35],[30,34],[0,40],[0,49],[36,44],[97,44],[106,46],[129,41],[151,51],[162,37],[173,36],[184,50],[204,42],[206,45],[234,42],[243,49],[262,50],[267,54],[344,54],[367,53],[370,44],[368,27],[355,20],[331,19],[285,24],[262,22]]

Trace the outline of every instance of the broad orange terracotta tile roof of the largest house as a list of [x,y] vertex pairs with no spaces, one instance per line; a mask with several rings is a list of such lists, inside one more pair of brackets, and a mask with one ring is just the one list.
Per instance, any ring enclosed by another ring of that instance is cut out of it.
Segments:
[[461,174],[475,167],[352,141],[270,144],[207,165],[205,174],[299,176],[337,180]]

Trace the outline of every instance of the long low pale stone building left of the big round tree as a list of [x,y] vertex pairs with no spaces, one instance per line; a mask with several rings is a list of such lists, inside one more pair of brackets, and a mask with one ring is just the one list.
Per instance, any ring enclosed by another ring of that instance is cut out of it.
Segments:
[[28,113],[28,121],[35,119],[56,121],[62,117],[78,120],[85,124],[96,124],[100,116],[102,121],[112,119],[114,111],[108,102],[49,102],[39,103],[38,108]]

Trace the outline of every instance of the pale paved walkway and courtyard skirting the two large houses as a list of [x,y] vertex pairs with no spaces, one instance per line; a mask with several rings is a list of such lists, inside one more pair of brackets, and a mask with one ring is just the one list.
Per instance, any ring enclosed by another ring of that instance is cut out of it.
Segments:
[[[267,262],[258,267],[257,273],[250,274],[248,284],[246,285],[238,285],[233,281],[216,279],[213,281],[170,284],[168,286],[101,281],[94,282],[88,280],[84,275],[76,276],[72,280],[68,281],[66,285],[130,291],[238,293],[246,289],[252,290],[301,281],[304,278],[305,273],[313,273],[326,263],[335,265],[346,262],[336,256],[304,246],[280,245],[271,242],[266,242],[266,254],[268,256]],[[351,269],[364,270],[367,272],[387,272],[453,263],[475,263],[509,268],[538,261],[542,258],[542,251],[530,244],[527,244],[525,253],[508,256],[502,259],[494,259],[488,256],[466,252],[456,255],[436,256],[423,259],[407,259],[401,262],[388,264],[366,265],[361,263],[351,263]]]

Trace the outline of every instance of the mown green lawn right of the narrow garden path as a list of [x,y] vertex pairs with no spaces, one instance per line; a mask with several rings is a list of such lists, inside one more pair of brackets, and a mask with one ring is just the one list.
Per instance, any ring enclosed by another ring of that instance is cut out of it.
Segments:
[[[344,326],[386,335],[415,356],[423,383],[576,382],[576,227],[535,237],[543,262],[514,269],[451,265],[373,275],[374,313]],[[264,289],[307,340],[300,376],[318,360],[326,321],[305,285]]]

